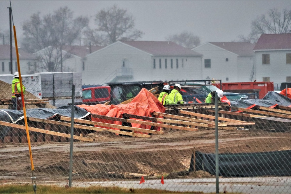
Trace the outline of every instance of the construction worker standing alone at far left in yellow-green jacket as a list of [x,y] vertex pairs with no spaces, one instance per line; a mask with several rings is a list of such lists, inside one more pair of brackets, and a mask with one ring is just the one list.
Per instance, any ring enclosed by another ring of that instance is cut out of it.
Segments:
[[[21,101],[21,88],[20,88],[20,81],[19,81],[19,74],[18,72],[15,72],[13,75],[13,80],[12,80],[12,97],[11,97],[11,102],[12,102],[12,109],[14,110],[22,110],[22,101]],[[23,94],[25,92],[25,87],[22,85],[22,91]]]

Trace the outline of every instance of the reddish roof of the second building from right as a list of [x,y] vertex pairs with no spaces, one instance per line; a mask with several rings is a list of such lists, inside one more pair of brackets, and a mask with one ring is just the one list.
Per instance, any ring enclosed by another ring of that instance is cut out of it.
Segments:
[[239,56],[253,56],[255,44],[250,42],[209,42],[212,45],[226,49]]

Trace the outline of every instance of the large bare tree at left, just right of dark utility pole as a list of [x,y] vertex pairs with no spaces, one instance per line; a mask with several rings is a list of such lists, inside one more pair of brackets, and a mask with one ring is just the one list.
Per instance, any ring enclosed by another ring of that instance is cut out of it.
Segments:
[[22,26],[22,47],[33,53],[42,50],[37,52],[44,55],[38,56],[42,70],[62,72],[63,60],[70,57],[69,54],[63,56],[63,46],[78,42],[88,23],[87,17],[73,18],[73,11],[68,7],[61,7],[54,14],[47,14],[42,18],[39,12],[35,13]]

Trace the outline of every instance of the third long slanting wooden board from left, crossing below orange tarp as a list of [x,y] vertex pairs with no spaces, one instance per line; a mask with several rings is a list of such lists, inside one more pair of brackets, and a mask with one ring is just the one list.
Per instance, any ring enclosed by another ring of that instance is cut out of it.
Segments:
[[[71,118],[70,117],[61,116],[61,120],[71,121]],[[118,124],[110,124],[110,123],[102,123],[102,122],[96,122],[96,121],[88,121],[88,120],[84,120],[84,119],[76,119],[76,118],[74,118],[74,122],[84,123],[84,124],[93,124],[93,125],[98,125],[98,126],[103,126],[103,127],[126,129],[126,130],[131,130],[131,131],[139,131],[139,132],[150,133],[150,134],[164,134],[164,132],[162,132],[162,131],[155,131],[155,130],[150,130],[150,129],[141,129],[141,128],[136,128],[136,127],[127,127],[127,126],[118,125]]]

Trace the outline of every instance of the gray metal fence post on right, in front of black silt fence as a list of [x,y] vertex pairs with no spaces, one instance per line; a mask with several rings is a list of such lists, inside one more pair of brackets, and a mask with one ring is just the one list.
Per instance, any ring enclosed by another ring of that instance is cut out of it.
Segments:
[[[221,85],[220,85],[221,86]],[[218,100],[215,92],[215,172],[216,172],[216,193],[219,193],[219,166],[218,166]]]

